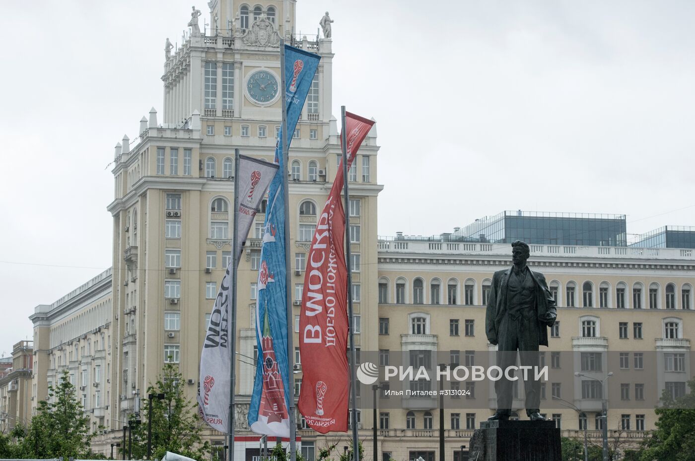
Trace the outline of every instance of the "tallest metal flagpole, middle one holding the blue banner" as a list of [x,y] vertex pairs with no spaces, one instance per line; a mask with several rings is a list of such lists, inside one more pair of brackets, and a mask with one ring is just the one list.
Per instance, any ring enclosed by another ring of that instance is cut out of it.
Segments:
[[[290,150],[287,148],[287,87],[285,86],[285,40],[280,39],[280,87],[282,90],[282,128],[280,132],[280,152],[285,162],[285,169],[290,164]],[[296,421],[295,421],[295,375],[293,373],[295,361],[294,348],[294,321],[292,316],[292,299],[290,292],[290,191],[289,181],[287,181],[287,171],[280,171],[282,175],[283,192],[285,197],[285,290],[287,294],[287,376],[290,381],[290,388],[287,389],[289,394],[290,408],[288,408],[288,417],[290,419],[290,460],[297,459],[297,442],[296,442]]]

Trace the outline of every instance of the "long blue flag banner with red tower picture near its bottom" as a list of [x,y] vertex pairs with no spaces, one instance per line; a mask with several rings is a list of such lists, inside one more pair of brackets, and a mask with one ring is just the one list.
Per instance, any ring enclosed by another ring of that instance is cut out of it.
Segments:
[[[316,74],[320,56],[285,45],[285,94],[287,149],[297,126],[306,94]],[[265,232],[261,247],[261,268],[256,301],[256,342],[258,362],[254,392],[249,408],[249,426],[258,434],[276,437],[290,436],[288,408],[294,389],[289,387],[287,356],[287,274],[285,263],[284,187],[287,165],[280,148],[282,129],[275,147],[275,162],[279,169],[268,189],[268,207],[265,211]]]

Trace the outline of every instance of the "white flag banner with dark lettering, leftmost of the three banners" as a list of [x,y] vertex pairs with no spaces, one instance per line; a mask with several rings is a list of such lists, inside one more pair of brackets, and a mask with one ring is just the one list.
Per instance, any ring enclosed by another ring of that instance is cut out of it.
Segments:
[[[231,272],[236,270],[241,258],[243,242],[251,229],[256,213],[270,181],[277,172],[278,165],[265,160],[247,156],[239,156],[238,173],[234,181],[238,181],[235,189],[238,191],[239,212],[236,226],[236,261],[230,261],[224,273],[220,291],[215,298],[215,305],[207,326],[203,351],[200,354],[200,389],[197,396],[198,413],[213,429],[227,432],[229,419],[229,385],[230,367],[232,363],[231,344],[234,335],[231,328]],[[234,243],[233,243],[234,244]],[[233,266],[234,265],[234,266]]]

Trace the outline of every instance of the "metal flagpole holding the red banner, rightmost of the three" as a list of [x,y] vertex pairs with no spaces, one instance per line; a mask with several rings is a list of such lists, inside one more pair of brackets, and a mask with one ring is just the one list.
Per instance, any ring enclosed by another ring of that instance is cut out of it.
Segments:
[[354,350],[354,319],[352,317],[352,255],[350,254],[350,191],[347,187],[347,135],[345,133],[345,106],[341,106],[341,144],[343,144],[343,192],[345,193],[345,265],[347,265],[347,321],[350,328],[350,394],[352,396],[352,461],[359,461],[359,442],[357,442],[357,379],[354,368],[357,366],[357,352]]

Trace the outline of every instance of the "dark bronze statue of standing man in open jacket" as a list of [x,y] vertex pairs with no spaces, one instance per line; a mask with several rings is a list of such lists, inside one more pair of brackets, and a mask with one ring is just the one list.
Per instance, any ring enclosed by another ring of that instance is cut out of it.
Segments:
[[[521,376],[524,383],[526,414],[532,421],[542,421],[541,383],[534,379],[538,367],[538,347],[548,346],[548,327],[555,324],[557,309],[550,294],[546,277],[527,265],[528,244],[512,243],[512,262],[509,269],[496,271],[485,312],[485,333],[490,344],[498,346],[497,365],[502,377],[495,381],[497,411],[489,420],[509,419],[512,413],[512,380],[505,374],[507,367],[516,365],[519,351],[522,367],[528,373]],[[521,380],[521,378],[519,378]]]

